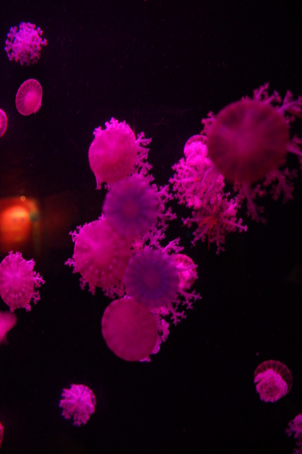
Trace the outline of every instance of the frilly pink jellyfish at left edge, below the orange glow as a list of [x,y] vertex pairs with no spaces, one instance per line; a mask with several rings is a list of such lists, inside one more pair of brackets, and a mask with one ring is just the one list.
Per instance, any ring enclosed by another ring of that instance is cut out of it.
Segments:
[[37,289],[45,281],[34,266],[34,260],[25,260],[21,253],[12,251],[0,263],[0,296],[12,312],[21,307],[30,311],[30,302],[37,304],[40,299]]

